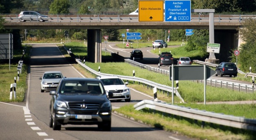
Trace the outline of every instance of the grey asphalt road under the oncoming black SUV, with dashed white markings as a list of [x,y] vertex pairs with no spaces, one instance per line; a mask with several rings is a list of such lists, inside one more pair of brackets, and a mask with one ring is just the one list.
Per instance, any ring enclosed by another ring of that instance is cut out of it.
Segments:
[[[62,125],[60,131],[49,127],[49,92],[40,92],[39,78],[45,71],[61,71],[66,77],[84,77],[69,64],[54,44],[33,45],[28,74],[28,90],[23,103],[0,102],[1,140],[191,140],[186,136],[112,114],[111,131],[97,125]],[[131,102],[111,102],[113,109],[152,97],[131,89]]]

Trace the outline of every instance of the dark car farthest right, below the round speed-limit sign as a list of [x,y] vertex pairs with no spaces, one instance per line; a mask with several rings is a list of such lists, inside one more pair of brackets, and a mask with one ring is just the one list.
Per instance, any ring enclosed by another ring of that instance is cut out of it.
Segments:
[[225,75],[229,75],[229,77],[236,77],[237,76],[237,67],[236,64],[234,63],[230,63],[230,62],[222,62],[220,63],[215,71],[217,72],[215,76],[220,75],[225,76]]

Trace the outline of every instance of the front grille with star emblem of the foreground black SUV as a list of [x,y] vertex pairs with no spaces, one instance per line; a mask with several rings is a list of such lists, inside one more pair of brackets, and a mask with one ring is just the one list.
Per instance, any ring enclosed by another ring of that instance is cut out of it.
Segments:
[[[83,104],[85,104],[85,108],[83,108]],[[97,110],[100,104],[92,104],[85,102],[69,102],[69,108],[74,110]]]

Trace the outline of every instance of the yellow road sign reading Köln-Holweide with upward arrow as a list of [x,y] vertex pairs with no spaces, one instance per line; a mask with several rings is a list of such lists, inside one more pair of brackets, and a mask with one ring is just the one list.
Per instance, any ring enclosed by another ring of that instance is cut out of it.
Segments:
[[139,0],[139,22],[164,21],[163,0]]

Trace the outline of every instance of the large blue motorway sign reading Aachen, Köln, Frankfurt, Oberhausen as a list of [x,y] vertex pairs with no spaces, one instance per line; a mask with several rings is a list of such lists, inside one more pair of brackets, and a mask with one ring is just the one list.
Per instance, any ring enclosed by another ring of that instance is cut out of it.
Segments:
[[190,0],[165,0],[165,21],[190,22]]

